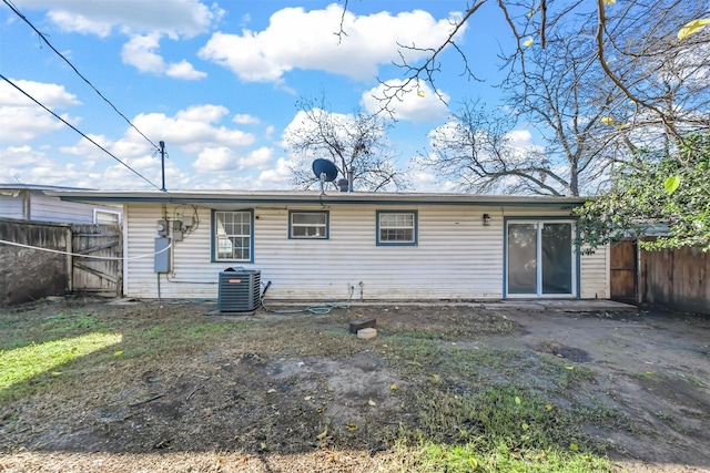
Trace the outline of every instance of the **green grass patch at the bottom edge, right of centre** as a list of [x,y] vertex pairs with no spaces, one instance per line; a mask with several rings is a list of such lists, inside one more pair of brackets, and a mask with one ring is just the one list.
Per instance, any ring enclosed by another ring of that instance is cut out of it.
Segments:
[[413,402],[417,424],[396,440],[407,471],[612,471],[605,445],[582,430],[591,408],[561,409],[511,384],[458,395],[429,383]]

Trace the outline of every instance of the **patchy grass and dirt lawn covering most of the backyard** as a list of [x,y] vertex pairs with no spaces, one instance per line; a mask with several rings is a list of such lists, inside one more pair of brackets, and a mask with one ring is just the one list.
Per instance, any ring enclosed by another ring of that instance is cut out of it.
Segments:
[[[407,310],[374,313],[382,328],[369,341],[348,332],[359,317],[345,310],[230,318],[145,304],[0,313],[0,451],[41,439],[121,453],[317,452],[321,467],[346,456],[332,452],[361,452],[361,471],[611,471],[606,444],[586,426],[628,425],[566,398],[596,382],[592,370],[480,348],[481,335],[516,330],[504,315]],[[354,368],[357,357],[372,364]],[[304,372],[308,364],[316,368]],[[390,373],[384,392],[329,384],[371,371]]]

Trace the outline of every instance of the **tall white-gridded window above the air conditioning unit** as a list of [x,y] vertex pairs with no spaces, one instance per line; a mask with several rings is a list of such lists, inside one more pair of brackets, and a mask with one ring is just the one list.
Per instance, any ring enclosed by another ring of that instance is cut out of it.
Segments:
[[215,261],[253,261],[253,214],[251,210],[214,210],[212,218]]

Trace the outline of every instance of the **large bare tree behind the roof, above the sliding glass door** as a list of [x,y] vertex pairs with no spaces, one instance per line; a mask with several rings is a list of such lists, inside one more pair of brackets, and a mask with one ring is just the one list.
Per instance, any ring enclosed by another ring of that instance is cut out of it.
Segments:
[[[424,164],[466,192],[578,196],[598,186],[626,154],[605,116],[620,92],[604,84],[598,69],[577,61],[580,44],[548,38],[526,52],[526,73],[504,84],[507,111],[490,112],[470,101],[432,136]],[[515,145],[524,126],[538,146]]]

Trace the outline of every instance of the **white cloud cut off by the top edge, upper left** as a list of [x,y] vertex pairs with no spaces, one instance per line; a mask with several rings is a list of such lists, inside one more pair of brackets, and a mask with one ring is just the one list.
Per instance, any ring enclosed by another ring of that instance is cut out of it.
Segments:
[[120,25],[129,32],[158,32],[191,38],[209,31],[224,16],[216,3],[200,0],[16,0],[19,9],[47,9],[48,17],[64,31],[108,35]]

